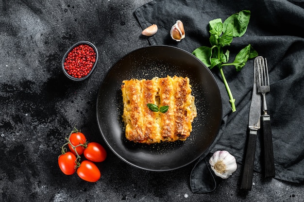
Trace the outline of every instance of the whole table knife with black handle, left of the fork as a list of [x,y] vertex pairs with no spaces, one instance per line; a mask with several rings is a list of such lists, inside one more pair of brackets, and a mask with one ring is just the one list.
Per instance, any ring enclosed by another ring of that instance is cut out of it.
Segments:
[[249,110],[249,134],[247,140],[246,156],[242,174],[241,189],[251,190],[253,178],[254,155],[257,131],[260,129],[261,95],[257,92],[257,61],[253,65],[253,94]]

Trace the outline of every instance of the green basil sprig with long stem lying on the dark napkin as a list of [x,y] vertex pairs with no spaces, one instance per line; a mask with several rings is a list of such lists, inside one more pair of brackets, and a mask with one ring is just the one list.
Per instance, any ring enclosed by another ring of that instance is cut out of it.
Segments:
[[236,111],[236,100],[232,96],[222,67],[233,65],[236,67],[236,71],[240,71],[245,66],[247,60],[255,58],[258,53],[249,44],[237,53],[232,63],[227,63],[230,52],[223,47],[230,46],[233,37],[241,37],[245,34],[249,24],[250,14],[250,11],[243,10],[228,17],[224,23],[222,23],[220,18],[209,21],[209,41],[211,47],[202,46],[192,52],[206,67],[212,69],[217,66],[220,69],[220,74],[229,96],[229,102],[231,103],[232,112]]

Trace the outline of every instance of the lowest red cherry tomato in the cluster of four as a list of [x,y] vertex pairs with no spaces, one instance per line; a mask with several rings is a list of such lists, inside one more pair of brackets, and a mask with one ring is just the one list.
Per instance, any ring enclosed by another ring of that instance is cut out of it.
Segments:
[[100,170],[97,166],[88,160],[84,160],[80,164],[80,167],[77,168],[77,174],[81,179],[91,183],[97,182],[101,177]]

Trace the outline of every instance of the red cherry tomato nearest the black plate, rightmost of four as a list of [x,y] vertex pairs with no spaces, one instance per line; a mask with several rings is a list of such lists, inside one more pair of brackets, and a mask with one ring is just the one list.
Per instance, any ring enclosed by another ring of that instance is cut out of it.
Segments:
[[107,157],[107,152],[97,142],[90,142],[84,150],[84,156],[87,160],[93,162],[102,162]]

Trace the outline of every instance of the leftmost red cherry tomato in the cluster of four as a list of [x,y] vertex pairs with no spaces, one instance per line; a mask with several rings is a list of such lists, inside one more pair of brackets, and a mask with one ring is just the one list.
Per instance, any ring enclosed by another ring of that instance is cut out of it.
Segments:
[[59,168],[66,175],[71,175],[75,172],[76,156],[72,152],[66,152],[58,157]]

